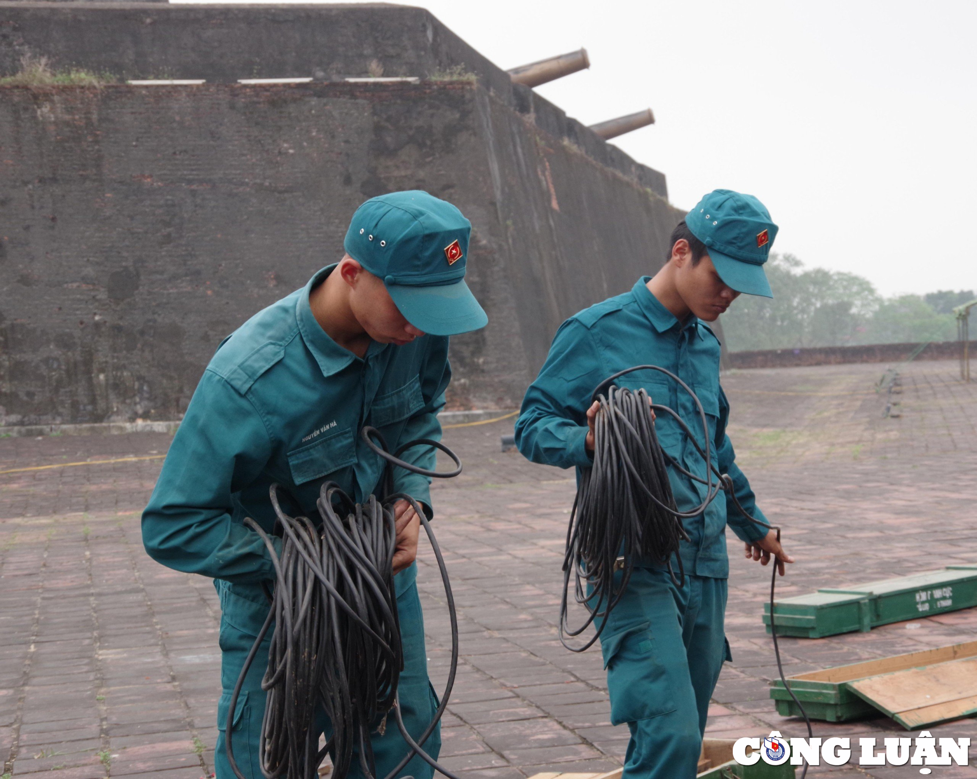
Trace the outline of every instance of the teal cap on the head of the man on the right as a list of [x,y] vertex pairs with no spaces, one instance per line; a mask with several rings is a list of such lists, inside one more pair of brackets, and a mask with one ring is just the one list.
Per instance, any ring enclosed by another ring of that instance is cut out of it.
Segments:
[[763,263],[777,237],[777,225],[753,195],[713,190],[685,217],[692,235],[708,249],[719,278],[747,295],[773,297]]

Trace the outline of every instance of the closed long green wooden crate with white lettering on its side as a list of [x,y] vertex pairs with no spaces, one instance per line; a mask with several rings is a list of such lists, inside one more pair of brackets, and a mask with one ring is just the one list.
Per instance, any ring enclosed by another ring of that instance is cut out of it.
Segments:
[[[971,606],[977,606],[977,565],[959,565],[784,598],[774,603],[774,622],[778,635],[823,638]],[[763,623],[769,633],[769,603]]]

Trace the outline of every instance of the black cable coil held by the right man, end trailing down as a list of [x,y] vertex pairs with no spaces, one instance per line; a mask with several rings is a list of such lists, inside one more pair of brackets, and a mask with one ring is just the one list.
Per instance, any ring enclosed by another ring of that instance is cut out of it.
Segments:
[[[653,403],[644,389],[632,391],[616,386],[616,379],[635,370],[657,370],[674,380],[689,395],[699,412],[702,446],[676,411]],[[689,541],[689,536],[682,527],[682,520],[699,516],[720,492],[725,492],[728,498],[732,498],[733,504],[746,519],[757,527],[776,531],[777,541],[781,540],[781,529],[761,522],[746,511],[736,497],[732,478],[729,474],[720,473],[712,464],[705,410],[693,389],[677,375],[659,366],[626,368],[609,376],[597,386],[591,396],[591,404],[594,401],[599,404],[594,420],[594,462],[589,468],[581,468],[567,528],[567,547],[563,563],[560,640],[573,652],[585,651],[600,638],[608,616],[627,588],[637,558],[666,565],[672,581],[678,586],[685,584],[679,544],[682,540]],[[671,416],[692,442],[706,463],[704,479],[684,468],[661,448],[655,430],[656,413]],[[668,481],[668,466],[705,486],[705,495],[699,505],[682,511],[678,509]],[[678,579],[672,568],[672,555],[678,560]],[[781,650],[774,624],[777,564],[775,557],[770,583],[770,630],[774,639],[777,669],[787,693],[804,717],[808,736],[813,738],[811,720],[787,684],[781,663]],[[618,571],[620,576],[616,578]],[[574,599],[589,612],[587,619],[578,628],[570,628],[568,624],[568,592],[572,576]],[[572,646],[569,643],[568,637],[580,635],[594,623],[597,623],[597,629],[588,641],[581,646]],[[806,775],[805,764],[801,779]]]

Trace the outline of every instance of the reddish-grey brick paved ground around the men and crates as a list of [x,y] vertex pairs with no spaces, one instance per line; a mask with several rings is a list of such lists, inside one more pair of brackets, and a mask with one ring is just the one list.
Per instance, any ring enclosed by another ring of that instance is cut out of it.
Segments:
[[[785,595],[827,584],[977,561],[977,398],[956,364],[901,368],[883,417],[880,366],[738,371],[724,378],[732,433],[764,510],[797,557]],[[608,721],[600,652],[573,655],[555,620],[572,474],[501,453],[510,422],[446,432],[465,473],[438,483],[436,530],[450,567],[462,663],[443,757],[466,777],[611,768],[626,729]],[[165,435],[0,441],[0,760],[15,775],[197,779],[213,765],[219,610],[209,581],[145,555],[139,511]],[[140,457],[141,459],[136,459]],[[727,634],[734,662],[715,692],[710,735],[803,735],[769,699],[777,675],[760,622],[767,569],[733,551]],[[420,577],[436,685],[446,671],[443,595],[429,551]],[[795,673],[973,640],[977,609],[820,640],[783,639]],[[972,719],[930,728],[969,736]],[[816,735],[905,735],[885,717],[815,723]],[[975,752],[974,757],[977,757]],[[975,760],[977,762],[977,760]],[[832,779],[918,776],[917,766],[854,766]],[[977,768],[936,768],[977,777]]]

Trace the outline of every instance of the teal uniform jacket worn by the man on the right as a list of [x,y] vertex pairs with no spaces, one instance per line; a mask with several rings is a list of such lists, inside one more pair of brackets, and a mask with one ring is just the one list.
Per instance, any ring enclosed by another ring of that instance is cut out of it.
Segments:
[[[695,317],[679,323],[649,291],[648,279],[638,280],[629,292],[591,306],[561,325],[546,363],[523,400],[516,422],[516,445],[533,462],[562,468],[589,467],[592,460],[583,443],[587,435],[586,411],[594,388],[624,368],[666,368],[699,396],[708,420],[713,463],[732,477],[743,508],[765,522],[726,435],[730,407],[719,385],[719,340],[708,325]],[[617,384],[631,389],[644,387],[653,402],[677,411],[699,438],[700,446],[704,444],[699,411],[675,381],[658,371],[640,370],[621,376]],[[701,454],[678,423],[666,414],[658,414],[655,426],[662,449],[704,479]],[[704,497],[704,485],[674,468],[669,468],[669,480],[679,509],[698,505]],[[724,493],[703,514],[686,519],[683,524],[691,539],[681,544],[685,571],[701,577],[729,576],[727,524],[743,541],[766,535],[765,530],[743,517]],[[675,563],[674,558],[672,562]],[[654,567],[648,561],[639,564]]]

